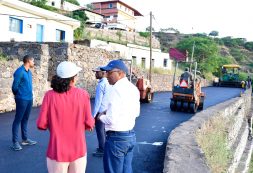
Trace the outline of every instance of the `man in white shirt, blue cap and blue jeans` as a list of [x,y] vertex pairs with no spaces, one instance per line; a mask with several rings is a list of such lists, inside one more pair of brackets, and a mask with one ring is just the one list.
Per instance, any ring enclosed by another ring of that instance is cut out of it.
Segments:
[[140,93],[126,78],[128,68],[123,61],[112,60],[101,69],[107,72],[108,82],[113,85],[106,114],[97,117],[105,124],[106,131],[104,172],[132,173],[136,144],[133,128],[140,114]]

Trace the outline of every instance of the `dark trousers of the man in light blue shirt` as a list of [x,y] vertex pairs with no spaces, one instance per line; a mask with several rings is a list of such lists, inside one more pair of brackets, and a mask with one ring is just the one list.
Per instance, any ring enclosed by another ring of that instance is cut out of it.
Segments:
[[95,118],[95,126],[96,126],[96,132],[97,132],[97,139],[98,139],[98,148],[101,151],[104,151],[105,146],[105,124],[97,120]]

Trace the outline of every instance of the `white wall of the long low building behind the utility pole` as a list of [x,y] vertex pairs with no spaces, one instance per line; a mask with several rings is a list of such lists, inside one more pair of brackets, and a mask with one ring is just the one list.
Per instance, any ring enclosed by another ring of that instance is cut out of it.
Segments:
[[[141,66],[142,58],[145,58],[145,67],[148,69],[150,66],[150,50],[147,47],[137,46],[133,44],[128,44],[127,46],[108,43],[100,40],[91,40],[91,48],[101,48],[107,51],[117,51],[120,53],[122,58],[132,59],[132,56],[136,57],[136,63],[138,66]],[[152,59],[155,60],[154,67],[171,69],[172,61],[168,53],[162,53],[159,49],[153,49]],[[167,59],[167,67],[163,66],[164,59]]]

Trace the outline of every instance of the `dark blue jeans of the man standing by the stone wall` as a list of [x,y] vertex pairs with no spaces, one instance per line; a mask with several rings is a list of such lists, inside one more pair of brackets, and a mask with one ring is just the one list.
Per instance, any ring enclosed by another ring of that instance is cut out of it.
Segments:
[[12,124],[12,142],[18,142],[18,129],[21,124],[22,139],[27,140],[27,123],[32,109],[33,100],[15,99],[16,114]]

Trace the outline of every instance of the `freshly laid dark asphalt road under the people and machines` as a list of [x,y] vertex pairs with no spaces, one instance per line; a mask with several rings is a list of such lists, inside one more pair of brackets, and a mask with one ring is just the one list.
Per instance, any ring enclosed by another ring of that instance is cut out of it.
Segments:
[[[204,109],[239,96],[241,89],[204,88],[206,100]],[[193,114],[171,112],[170,92],[155,93],[151,104],[141,105],[135,131],[137,143],[133,158],[134,173],[161,173],[165,147],[170,132],[180,123],[189,120]],[[38,141],[35,146],[25,146],[23,150],[10,150],[11,125],[15,112],[0,114],[0,172],[1,173],[46,173],[46,148],[49,133],[36,128],[39,108],[34,108],[29,119],[30,138]],[[102,158],[92,156],[97,147],[95,132],[86,132],[88,163],[86,173],[103,173]]]

